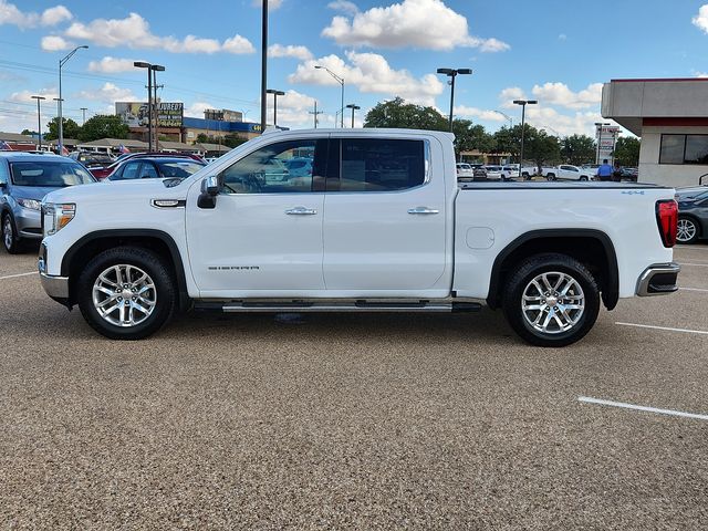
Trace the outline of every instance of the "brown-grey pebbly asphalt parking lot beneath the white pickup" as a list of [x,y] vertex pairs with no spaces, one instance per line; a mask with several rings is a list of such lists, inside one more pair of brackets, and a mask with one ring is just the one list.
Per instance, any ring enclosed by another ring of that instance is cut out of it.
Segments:
[[542,350],[490,311],[111,342],[0,254],[0,528],[705,529],[708,246],[675,256],[680,292]]

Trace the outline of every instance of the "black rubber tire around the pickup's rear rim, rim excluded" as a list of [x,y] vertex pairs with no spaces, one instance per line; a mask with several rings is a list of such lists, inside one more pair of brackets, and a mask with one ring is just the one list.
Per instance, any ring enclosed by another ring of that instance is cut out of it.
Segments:
[[[553,272],[565,273],[580,284],[585,306],[572,327],[546,333],[534,329],[527,320],[522,310],[522,296],[533,279],[542,273]],[[589,269],[577,260],[566,254],[537,254],[522,261],[510,273],[502,305],[504,316],[513,331],[528,343],[535,346],[566,346],[584,337],[595,324],[600,312],[600,289]]]

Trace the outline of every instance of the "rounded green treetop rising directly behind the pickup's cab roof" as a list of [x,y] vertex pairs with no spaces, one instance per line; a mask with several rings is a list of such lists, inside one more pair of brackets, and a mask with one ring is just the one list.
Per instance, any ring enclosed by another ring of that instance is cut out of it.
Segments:
[[402,97],[382,102],[366,113],[364,127],[403,127],[447,131],[448,122],[436,108],[406,103]]

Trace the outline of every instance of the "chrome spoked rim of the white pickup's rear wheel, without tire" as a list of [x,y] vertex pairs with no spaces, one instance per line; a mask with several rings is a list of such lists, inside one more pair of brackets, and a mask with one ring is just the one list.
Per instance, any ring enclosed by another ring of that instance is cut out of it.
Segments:
[[585,294],[568,273],[541,273],[523,290],[521,311],[533,330],[560,334],[580,322],[585,311]]

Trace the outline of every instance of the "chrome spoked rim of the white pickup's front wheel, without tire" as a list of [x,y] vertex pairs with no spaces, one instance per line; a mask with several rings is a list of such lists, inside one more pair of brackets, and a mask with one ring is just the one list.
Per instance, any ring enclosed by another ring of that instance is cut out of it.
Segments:
[[93,284],[96,312],[115,326],[129,327],[143,323],[153,314],[156,304],[155,282],[135,266],[112,266]]

